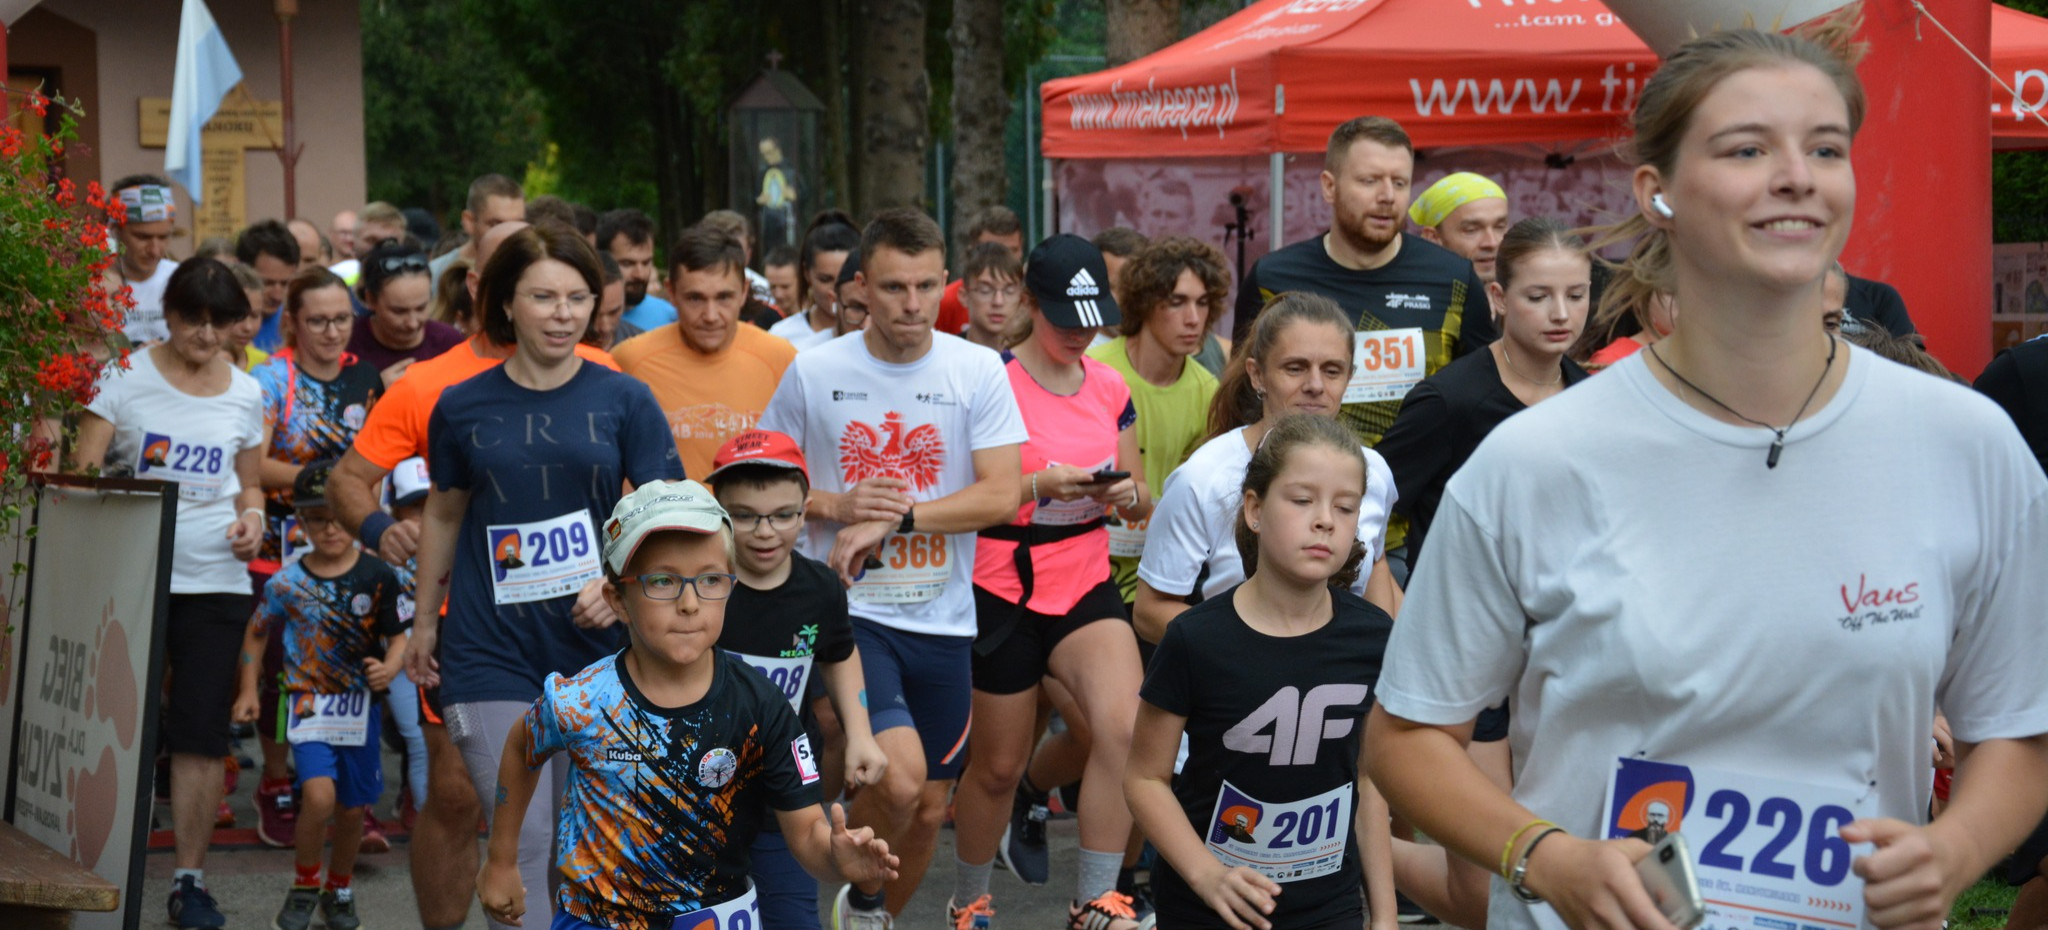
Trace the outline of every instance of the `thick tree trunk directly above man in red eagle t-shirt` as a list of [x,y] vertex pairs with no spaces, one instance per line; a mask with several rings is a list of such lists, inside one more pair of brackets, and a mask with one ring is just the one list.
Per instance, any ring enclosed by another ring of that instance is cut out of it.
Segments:
[[868,0],[860,23],[862,217],[889,207],[924,207],[924,156],[932,147],[924,2]]

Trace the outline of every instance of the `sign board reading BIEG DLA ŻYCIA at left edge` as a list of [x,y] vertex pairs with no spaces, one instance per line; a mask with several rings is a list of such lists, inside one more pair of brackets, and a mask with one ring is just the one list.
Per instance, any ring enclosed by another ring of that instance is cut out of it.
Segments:
[[117,912],[76,914],[82,930],[141,924],[176,512],[164,481],[37,488],[6,815],[127,889]]

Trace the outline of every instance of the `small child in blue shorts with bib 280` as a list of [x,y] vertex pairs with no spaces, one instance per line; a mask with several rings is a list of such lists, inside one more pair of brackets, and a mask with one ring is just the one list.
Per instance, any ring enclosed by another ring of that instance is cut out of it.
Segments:
[[[356,930],[354,877],[362,813],[383,795],[377,756],[377,692],[391,684],[406,656],[399,621],[403,586],[391,565],[367,559],[328,508],[332,461],[311,463],[293,481],[293,506],[311,551],[270,576],[262,604],[242,637],[238,723],[258,717],[256,670],[270,629],[285,637],[279,739],[299,768],[297,869],[276,930],[305,930],[313,910],[330,930]],[[319,848],[334,823],[328,881]]]

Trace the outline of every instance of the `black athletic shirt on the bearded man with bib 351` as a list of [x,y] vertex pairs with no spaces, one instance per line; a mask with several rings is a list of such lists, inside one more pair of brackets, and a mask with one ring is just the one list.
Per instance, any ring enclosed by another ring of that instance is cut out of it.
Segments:
[[[1487,289],[1473,262],[1419,236],[1401,234],[1395,260],[1370,270],[1337,264],[1323,248],[1323,236],[1266,254],[1237,289],[1237,338],[1251,332],[1251,320],[1266,301],[1286,291],[1337,301],[1362,332],[1419,328],[1425,375],[1497,336]],[[1360,442],[1372,447],[1399,410],[1399,401],[1346,404],[1341,418]]]

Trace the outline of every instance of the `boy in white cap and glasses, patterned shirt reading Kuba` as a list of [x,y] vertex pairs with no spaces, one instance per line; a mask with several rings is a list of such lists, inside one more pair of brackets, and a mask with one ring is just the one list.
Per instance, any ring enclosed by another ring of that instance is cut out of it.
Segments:
[[696,481],[649,481],[618,500],[602,539],[604,600],[631,641],[573,676],[547,676],[512,727],[477,879],[483,912],[516,924],[526,910],[520,819],[555,754],[569,762],[557,930],[760,926],[748,866],[770,809],[813,875],[893,879],[887,842],[848,832],[840,807],[827,821],[786,694],[715,645],[739,584],[725,508]]

